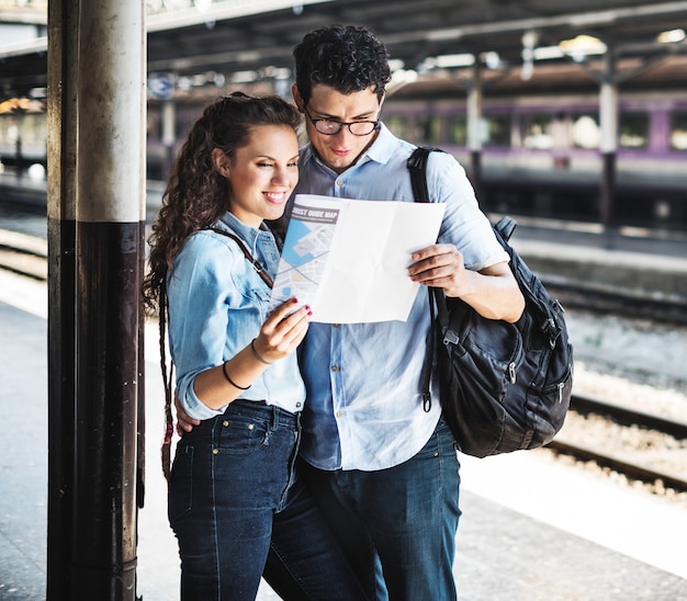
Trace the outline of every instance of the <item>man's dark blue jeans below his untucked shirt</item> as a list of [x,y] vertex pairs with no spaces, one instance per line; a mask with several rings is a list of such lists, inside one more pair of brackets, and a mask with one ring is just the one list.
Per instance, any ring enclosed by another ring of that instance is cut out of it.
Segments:
[[425,447],[395,467],[302,469],[368,592],[381,562],[392,601],[449,601],[457,598],[459,467],[455,439],[441,420]]

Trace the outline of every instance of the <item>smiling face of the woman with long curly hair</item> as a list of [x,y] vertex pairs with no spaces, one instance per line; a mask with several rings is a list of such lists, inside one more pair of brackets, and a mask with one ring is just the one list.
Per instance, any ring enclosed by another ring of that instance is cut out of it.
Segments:
[[299,182],[299,139],[288,125],[258,125],[250,141],[221,170],[229,180],[229,211],[244,224],[259,227],[278,219]]

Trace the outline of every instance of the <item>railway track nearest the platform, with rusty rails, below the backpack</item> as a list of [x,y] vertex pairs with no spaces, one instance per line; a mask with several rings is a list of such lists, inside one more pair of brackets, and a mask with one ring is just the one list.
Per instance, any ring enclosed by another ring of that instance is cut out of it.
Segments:
[[[687,423],[628,409],[604,400],[574,395],[571,401],[571,411],[585,417],[589,415],[602,417],[608,420],[609,424],[626,428],[637,427],[647,432],[650,436],[655,433],[657,445],[661,444],[660,439],[663,435],[675,439],[683,449],[685,447],[683,443],[687,441]],[[575,430],[576,428],[573,428],[570,433],[554,439],[547,445],[547,449],[570,455],[577,461],[594,462],[601,467],[624,475],[630,480],[640,480],[645,484],[662,483],[665,488],[687,492],[687,477],[680,474],[678,469],[655,467],[651,465],[652,458],[642,460],[641,451],[631,453],[631,458],[628,458],[627,451],[617,450],[616,445],[612,442],[609,444],[608,440],[599,441],[602,444],[595,449],[595,444],[579,442],[575,435]],[[612,436],[610,440],[612,441]],[[669,453],[671,451],[666,450],[665,455],[668,456]],[[678,467],[684,465],[677,453],[674,464]]]

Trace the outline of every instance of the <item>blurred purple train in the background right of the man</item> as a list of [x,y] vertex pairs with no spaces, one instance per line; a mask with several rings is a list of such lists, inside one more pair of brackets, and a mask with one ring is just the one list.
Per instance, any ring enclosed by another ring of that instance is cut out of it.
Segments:
[[[401,137],[451,152],[468,170],[466,99],[390,99]],[[598,93],[485,98],[480,201],[486,211],[598,220],[604,157]],[[623,93],[618,102],[615,219],[687,229],[687,94]]]

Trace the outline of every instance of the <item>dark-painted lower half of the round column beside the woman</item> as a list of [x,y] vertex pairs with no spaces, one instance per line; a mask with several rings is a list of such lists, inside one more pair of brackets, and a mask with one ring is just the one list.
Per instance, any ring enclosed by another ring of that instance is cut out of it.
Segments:
[[75,600],[134,600],[139,227],[77,220]]

